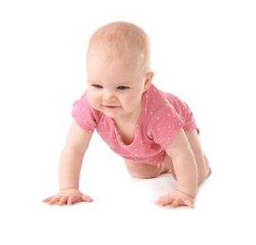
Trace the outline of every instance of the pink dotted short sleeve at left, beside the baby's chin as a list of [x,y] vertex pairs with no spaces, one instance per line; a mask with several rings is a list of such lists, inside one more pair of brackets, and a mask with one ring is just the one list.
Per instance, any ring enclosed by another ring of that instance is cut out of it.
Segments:
[[77,124],[88,133],[94,133],[101,112],[95,110],[88,102],[87,91],[83,93],[79,100],[73,104],[72,117]]

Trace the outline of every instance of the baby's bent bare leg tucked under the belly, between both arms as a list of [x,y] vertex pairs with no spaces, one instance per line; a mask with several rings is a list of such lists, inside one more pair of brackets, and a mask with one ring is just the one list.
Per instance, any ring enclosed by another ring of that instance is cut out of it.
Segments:
[[164,163],[158,165],[150,165],[143,162],[135,162],[125,159],[129,174],[134,178],[148,179],[155,178],[163,172],[167,172]]

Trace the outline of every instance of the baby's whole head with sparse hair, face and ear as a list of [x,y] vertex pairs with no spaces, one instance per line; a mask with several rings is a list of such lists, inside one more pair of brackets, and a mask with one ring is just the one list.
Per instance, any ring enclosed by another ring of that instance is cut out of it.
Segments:
[[94,109],[126,120],[140,115],[154,75],[144,30],[127,22],[103,25],[89,41],[86,66],[87,98]]

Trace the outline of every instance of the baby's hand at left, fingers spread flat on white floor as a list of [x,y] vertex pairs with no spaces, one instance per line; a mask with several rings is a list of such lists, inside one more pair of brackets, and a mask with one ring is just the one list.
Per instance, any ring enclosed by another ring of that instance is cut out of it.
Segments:
[[43,203],[47,203],[49,205],[52,204],[68,204],[72,205],[77,202],[93,202],[94,200],[84,195],[82,192],[80,192],[77,188],[66,188],[63,190],[60,190],[60,192],[56,196],[51,196],[48,198],[45,198],[43,200]]

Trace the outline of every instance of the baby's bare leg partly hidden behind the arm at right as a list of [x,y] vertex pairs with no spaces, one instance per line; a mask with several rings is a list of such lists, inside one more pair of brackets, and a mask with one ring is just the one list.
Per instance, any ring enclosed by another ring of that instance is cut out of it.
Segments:
[[[201,146],[199,137],[197,135],[196,129],[188,132],[186,136],[196,159],[196,166],[197,166],[197,172],[198,172],[198,185],[200,185],[205,179],[207,179],[211,175],[212,171],[209,166],[209,161],[206,155],[204,155],[202,151],[202,146]],[[176,179],[176,174],[173,169],[172,159],[169,155],[165,155],[164,164],[166,168],[171,171],[174,178]]]

